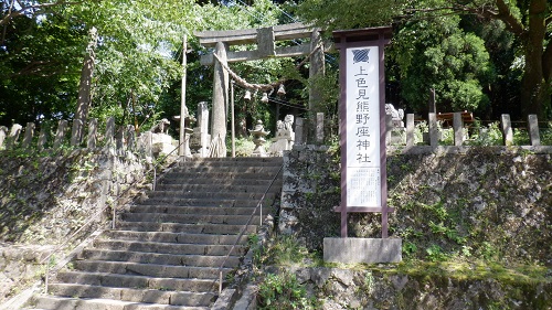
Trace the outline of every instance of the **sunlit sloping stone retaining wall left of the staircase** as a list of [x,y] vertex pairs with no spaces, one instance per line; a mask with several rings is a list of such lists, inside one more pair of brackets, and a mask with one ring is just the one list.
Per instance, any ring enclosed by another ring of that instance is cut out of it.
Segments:
[[59,245],[70,240],[49,259],[53,263],[92,232],[110,225],[114,206],[151,186],[144,183],[150,168],[130,153],[99,149],[0,160],[0,303],[41,279],[45,267],[39,263]]

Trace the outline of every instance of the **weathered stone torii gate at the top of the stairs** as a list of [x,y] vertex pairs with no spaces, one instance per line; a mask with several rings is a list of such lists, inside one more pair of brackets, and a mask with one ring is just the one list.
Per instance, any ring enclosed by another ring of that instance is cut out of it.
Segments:
[[[226,124],[229,110],[229,72],[227,63],[265,60],[270,57],[296,57],[309,55],[309,77],[325,74],[325,47],[320,30],[304,23],[290,23],[261,29],[202,31],[195,32],[200,44],[205,47],[215,47],[214,54],[201,56],[202,65],[214,65],[213,78],[213,109],[211,120],[211,137],[219,140],[217,157],[225,157]],[[288,41],[310,38],[309,43],[294,46],[276,47],[277,41]],[[257,50],[229,52],[230,45],[256,44]],[[317,111],[320,101],[320,92],[309,89],[309,109]],[[221,141],[222,140],[222,141]],[[213,143],[212,143],[213,146]]]

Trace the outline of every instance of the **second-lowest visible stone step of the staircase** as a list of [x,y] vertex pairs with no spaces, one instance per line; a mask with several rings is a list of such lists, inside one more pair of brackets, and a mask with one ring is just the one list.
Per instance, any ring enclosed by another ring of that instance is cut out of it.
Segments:
[[214,292],[167,291],[156,289],[110,288],[79,284],[51,284],[49,292],[61,297],[104,298],[140,303],[209,307]]

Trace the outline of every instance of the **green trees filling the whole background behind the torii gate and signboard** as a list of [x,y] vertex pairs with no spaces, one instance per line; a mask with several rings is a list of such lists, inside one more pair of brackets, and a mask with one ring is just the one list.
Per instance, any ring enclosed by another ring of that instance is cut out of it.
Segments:
[[[390,97],[411,111],[424,113],[434,88],[442,111],[468,109],[491,119],[501,113],[514,118],[552,116],[550,1],[283,2],[2,0],[0,124],[74,116],[92,28],[98,33],[92,116],[144,124],[179,114],[183,53],[189,58],[189,108],[193,113],[197,103],[210,101],[212,68],[199,63],[209,51],[199,46],[193,31],[261,28],[296,19],[329,31],[393,24],[386,67],[396,96]],[[286,10],[294,10],[297,18]],[[189,51],[182,51],[184,34]],[[331,60],[328,56],[327,63]],[[304,101],[306,87],[321,83],[329,94],[328,111],[333,110],[335,81],[307,81],[306,66],[297,71],[301,61],[255,61],[231,67],[254,83],[273,83],[285,75],[291,103]],[[329,78],[335,79],[335,71],[330,65]],[[244,89],[236,92],[241,96]],[[242,119],[274,121],[270,106],[236,104]]]

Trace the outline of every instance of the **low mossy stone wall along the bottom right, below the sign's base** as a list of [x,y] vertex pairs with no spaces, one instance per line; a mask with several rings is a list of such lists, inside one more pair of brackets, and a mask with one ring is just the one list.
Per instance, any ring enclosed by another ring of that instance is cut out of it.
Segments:
[[[552,284],[519,285],[448,276],[401,275],[340,268],[269,268],[291,272],[320,310],[346,309],[550,309]],[[254,308],[253,308],[254,309]]]

